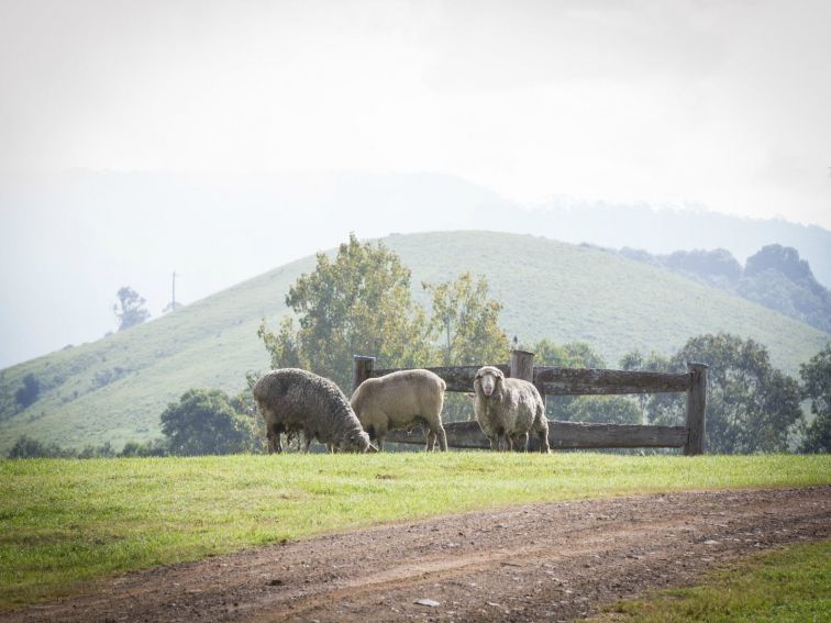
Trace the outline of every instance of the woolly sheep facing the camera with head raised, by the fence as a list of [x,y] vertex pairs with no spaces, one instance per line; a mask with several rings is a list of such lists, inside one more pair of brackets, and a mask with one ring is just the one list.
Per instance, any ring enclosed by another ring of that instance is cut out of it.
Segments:
[[549,453],[549,421],[545,403],[533,383],[505,378],[499,368],[479,368],[474,379],[474,412],[491,450],[524,452],[529,431],[540,437],[540,452]]

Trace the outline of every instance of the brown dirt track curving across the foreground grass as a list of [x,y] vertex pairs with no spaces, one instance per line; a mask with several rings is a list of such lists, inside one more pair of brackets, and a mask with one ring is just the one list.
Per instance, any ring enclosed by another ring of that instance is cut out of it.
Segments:
[[830,530],[831,487],[528,504],[158,567],[0,620],[573,620]]

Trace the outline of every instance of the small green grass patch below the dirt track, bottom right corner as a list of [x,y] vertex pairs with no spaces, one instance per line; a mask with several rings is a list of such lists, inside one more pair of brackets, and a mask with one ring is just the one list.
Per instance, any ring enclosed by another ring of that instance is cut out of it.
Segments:
[[682,622],[831,619],[831,542],[758,554],[709,574],[701,586],[622,601],[596,621]]

